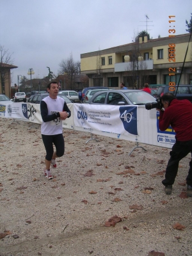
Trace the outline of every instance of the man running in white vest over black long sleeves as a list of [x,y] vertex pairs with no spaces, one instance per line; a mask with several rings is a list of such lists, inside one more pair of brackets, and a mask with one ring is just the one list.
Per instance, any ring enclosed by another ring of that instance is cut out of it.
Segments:
[[[44,175],[47,179],[52,179],[50,167],[56,168],[56,157],[63,156],[65,152],[65,143],[63,139],[63,127],[61,120],[70,117],[70,110],[61,97],[57,97],[59,88],[58,83],[52,81],[47,84],[49,96],[45,97],[40,103],[40,111],[42,115],[42,140],[44,142],[45,170]],[[56,147],[56,152],[53,150],[53,144]]]

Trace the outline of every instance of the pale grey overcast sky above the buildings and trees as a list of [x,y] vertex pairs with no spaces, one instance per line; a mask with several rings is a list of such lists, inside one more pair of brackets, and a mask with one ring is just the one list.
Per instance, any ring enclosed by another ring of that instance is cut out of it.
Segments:
[[18,66],[13,86],[17,75],[30,79],[29,68],[32,78],[47,76],[47,67],[57,75],[70,52],[80,61],[82,53],[129,44],[142,30],[168,36],[169,15],[175,35],[187,33],[191,13],[191,0],[0,0],[0,45]]

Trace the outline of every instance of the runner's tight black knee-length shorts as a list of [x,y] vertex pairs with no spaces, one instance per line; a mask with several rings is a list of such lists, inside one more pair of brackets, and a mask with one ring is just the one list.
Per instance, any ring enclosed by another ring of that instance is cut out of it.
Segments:
[[63,156],[65,152],[65,142],[64,142],[63,134],[56,134],[56,135],[42,134],[42,140],[44,142],[45,150],[47,153],[47,155],[45,156],[45,159],[47,159],[47,161],[51,161],[52,159],[52,154],[54,152],[53,144],[56,147],[56,155],[58,157]]

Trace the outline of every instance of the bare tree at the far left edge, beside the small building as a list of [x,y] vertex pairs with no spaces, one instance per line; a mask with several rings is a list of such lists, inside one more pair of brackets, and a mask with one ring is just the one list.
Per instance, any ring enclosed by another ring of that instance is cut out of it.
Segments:
[[12,54],[5,49],[3,45],[0,45],[0,82],[1,92],[4,92],[4,84],[8,79],[7,68],[8,65],[13,65]]

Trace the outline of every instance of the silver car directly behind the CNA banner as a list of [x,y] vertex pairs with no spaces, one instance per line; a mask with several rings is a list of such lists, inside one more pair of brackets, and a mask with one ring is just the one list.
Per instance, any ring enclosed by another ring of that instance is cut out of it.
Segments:
[[88,104],[145,105],[156,102],[156,98],[142,90],[106,90],[93,95]]

